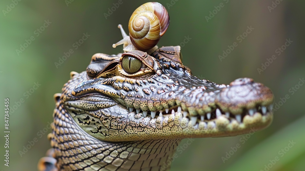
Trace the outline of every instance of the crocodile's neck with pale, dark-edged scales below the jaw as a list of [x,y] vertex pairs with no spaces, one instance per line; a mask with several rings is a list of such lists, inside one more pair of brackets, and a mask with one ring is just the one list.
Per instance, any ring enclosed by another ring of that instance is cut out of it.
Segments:
[[[85,133],[57,103],[51,145],[60,170],[169,170],[181,139],[106,142]],[[120,169],[118,169],[120,168]]]

